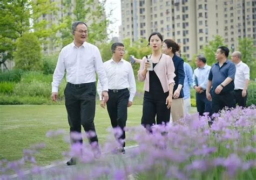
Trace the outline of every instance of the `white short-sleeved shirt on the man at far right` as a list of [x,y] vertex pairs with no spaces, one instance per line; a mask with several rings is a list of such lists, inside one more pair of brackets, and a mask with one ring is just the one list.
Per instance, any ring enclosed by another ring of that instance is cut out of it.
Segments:
[[250,68],[242,61],[235,64],[235,68],[234,89],[244,89],[245,80],[250,80]]

